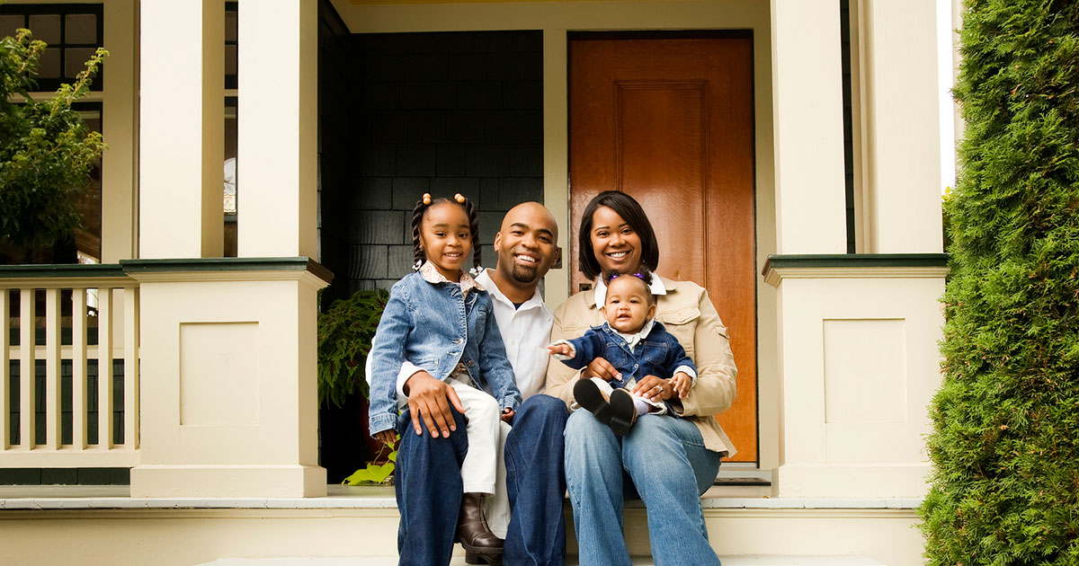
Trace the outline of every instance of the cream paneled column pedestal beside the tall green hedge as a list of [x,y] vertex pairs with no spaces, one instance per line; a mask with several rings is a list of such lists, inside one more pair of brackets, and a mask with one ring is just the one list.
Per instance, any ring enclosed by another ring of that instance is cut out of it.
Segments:
[[925,492],[943,290],[942,277],[782,280],[781,495]]

